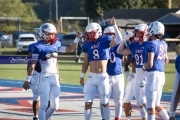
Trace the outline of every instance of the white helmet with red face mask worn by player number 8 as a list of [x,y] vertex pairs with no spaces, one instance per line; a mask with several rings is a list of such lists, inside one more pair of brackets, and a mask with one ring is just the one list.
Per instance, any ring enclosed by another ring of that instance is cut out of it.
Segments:
[[[92,36],[90,36],[88,33],[93,33]],[[102,28],[98,23],[89,23],[86,26],[85,29],[85,37],[87,41],[94,42],[102,35]]]

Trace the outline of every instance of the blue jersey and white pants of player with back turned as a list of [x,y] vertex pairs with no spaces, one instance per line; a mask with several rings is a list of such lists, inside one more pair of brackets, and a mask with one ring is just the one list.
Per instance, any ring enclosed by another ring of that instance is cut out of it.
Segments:
[[167,54],[167,43],[165,41],[154,40],[150,43],[147,52],[154,53],[154,60],[153,66],[147,69],[146,109],[160,105],[162,89],[165,83],[164,64]]

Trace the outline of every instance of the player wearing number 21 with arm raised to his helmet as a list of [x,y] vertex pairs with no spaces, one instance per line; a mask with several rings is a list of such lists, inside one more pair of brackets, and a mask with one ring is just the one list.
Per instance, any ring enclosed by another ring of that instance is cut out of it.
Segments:
[[140,108],[141,117],[143,120],[147,119],[146,112],[146,97],[145,97],[145,74],[141,68],[146,62],[146,49],[148,42],[147,39],[147,28],[146,24],[138,24],[134,29],[134,41],[129,45],[129,49],[124,48],[125,41],[119,46],[119,54],[132,54],[136,61],[136,73],[134,92],[136,97],[137,106]]

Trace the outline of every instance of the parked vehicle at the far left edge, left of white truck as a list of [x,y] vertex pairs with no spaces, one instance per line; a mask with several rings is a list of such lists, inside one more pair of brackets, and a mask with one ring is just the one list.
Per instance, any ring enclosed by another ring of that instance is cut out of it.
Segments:
[[13,46],[13,35],[5,34],[0,37],[1,47],[12,47]]

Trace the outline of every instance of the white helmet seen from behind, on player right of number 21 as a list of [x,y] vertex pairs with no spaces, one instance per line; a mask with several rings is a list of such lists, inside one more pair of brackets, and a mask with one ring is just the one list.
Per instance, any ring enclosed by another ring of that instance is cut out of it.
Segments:
[[154,35],[164,35],[164,25],[161,22],[152,22],[148,26],[148,35],[153,37]]

